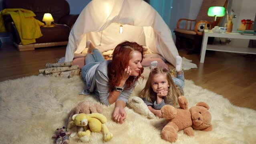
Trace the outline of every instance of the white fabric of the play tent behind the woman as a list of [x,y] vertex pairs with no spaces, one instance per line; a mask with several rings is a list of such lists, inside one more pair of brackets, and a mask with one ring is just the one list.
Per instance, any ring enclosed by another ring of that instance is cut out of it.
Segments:
[[[123,33],[119,33],[119,26]],[[95,46],[115,48],[124,40],[137,42],[151,52],[161,54],[175,65],[177,48],[164,20],[143,0],[92,0],[75,22],[66,49],[65,62],[72,61],[74,53],[86,48],[86,41]]]

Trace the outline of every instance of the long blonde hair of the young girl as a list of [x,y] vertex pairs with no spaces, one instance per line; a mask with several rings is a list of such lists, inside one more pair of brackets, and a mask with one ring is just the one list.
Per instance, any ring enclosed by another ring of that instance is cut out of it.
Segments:
[[176,86],[171,78],[171,72],[167,68],[162,67],[156,67],[151,70],[149,73],[149,78],[146,82],[145,88],[141,91],[141,96],[143,98],[146,98],[148,102],[155,102],[157,98],[157,93],[153,91],[153,88],[151,86],[152,78],[155,74],[166,74],[167,81],[169,84],[169,90],[167,93],[167,96],[165,96],[164,102],[166,104],[177,104],[178,97],[182,95],[181,90],[179,90],[179,87]]

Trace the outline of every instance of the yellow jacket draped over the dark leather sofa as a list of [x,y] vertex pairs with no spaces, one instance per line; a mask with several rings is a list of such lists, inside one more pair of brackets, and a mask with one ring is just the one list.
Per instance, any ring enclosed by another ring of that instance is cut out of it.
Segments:
[[44,23],[34,18],[36,16],[34,12],[22,8],[8,8],[0,12],[0,32],[6,32],[3,15],[8,14],[14,21],[22,45],[35,43],[35,39],[42,36],[40,26],[43,26]]

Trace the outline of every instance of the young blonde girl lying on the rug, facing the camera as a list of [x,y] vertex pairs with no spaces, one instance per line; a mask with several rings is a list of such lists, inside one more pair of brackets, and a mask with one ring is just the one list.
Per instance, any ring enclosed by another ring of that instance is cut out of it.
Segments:
[[185,84],[184,74],[181,70],[182,58],[176,56],[177,77],[172,78],[167,68],[155,67],[149,73],[145,88],[141,91],[143,101],[149,110],[162,118],[161,108],[166,105],[177,106],[178,97],[183,95]]

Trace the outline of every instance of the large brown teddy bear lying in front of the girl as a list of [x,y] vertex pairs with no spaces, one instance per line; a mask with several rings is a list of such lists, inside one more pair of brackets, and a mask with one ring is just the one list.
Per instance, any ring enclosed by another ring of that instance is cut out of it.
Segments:
[[187,99],[185,96],[179,96],[179,108],[165,105],[161,108],[163,118],[168,120],[161,131],[161,137],[168,142],[175,142],[178,138],[177,132],[183,130],[188,136],[194,135],[194,129],[211,131],[212,116],[209,106],[205,102],[199,102],[196,106],[187,108]]

